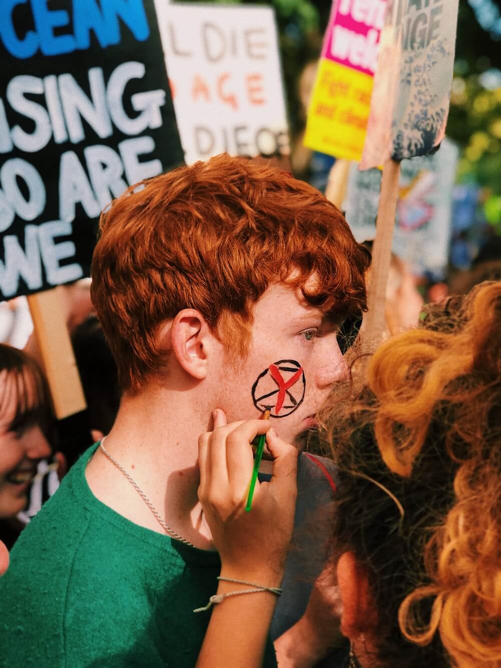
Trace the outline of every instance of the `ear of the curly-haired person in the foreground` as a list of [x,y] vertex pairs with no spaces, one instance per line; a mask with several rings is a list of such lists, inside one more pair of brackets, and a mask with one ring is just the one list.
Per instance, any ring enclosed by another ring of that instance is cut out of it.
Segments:
[[339,557],[337,584],[343,603],[341,633],[354,640],[361,633],[373,629],[375,613],[371,605],[367,574],[353,552],[345,552]]

